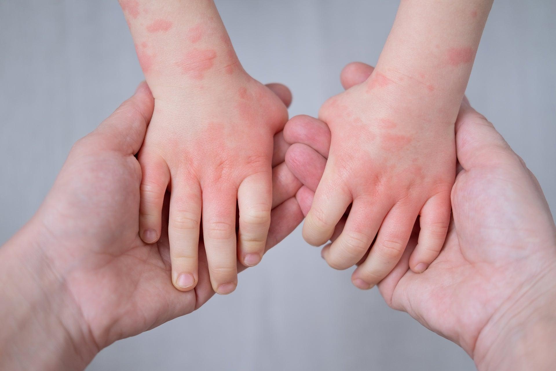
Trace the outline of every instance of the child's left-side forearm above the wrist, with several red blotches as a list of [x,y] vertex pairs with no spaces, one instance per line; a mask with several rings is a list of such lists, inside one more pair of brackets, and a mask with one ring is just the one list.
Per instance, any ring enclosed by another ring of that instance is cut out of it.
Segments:
[[239,62],[212,0],[120,0],[155,98],[232,75]]

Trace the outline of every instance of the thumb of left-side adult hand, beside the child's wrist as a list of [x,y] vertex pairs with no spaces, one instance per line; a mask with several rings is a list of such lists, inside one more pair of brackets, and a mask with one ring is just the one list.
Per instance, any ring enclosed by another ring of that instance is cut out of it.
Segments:
[[103,121],[92,135],[101,135],[106,146],[112,150],[135,155],[143,144],[154,109],[151,90],[146,82],[142,82],[135,94]]

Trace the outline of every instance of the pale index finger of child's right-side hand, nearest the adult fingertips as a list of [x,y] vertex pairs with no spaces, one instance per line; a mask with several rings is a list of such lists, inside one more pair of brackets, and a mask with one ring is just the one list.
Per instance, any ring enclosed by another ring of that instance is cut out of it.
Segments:
[[336,223],[352,200],[351,192],[343,181],[334,177],[335,171],[331,168],[324,172],[303,224],[303,238],[314,246],[320,246],[330,239]]

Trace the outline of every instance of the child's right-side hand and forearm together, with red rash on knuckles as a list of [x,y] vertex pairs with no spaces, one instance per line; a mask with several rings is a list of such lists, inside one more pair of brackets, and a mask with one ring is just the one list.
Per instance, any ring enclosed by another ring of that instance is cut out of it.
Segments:
[[[492,1],[401,1],[375,73],[330,98],[319,118],[330,128],[326,169],[304,222],[335,269],[366,256],[353,274],[370,289],[394,269],[420,216],[410,267],[438,256],[450,221],[456,157],[454,122]],[[356,135],[354,135],[356,133]]]

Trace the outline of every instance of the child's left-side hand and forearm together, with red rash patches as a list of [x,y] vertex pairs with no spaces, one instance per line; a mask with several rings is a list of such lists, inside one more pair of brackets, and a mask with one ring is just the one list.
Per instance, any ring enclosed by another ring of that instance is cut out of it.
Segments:
[[182,291],[197,285],[202,234],[212,288],[229,294],[237,286],[236,260],[254,266],[264,253],[273,137],[287,121],[286,107],[241,67],[214,2],[120,4],[155,97],[138,154],[141,238],[160,238],[170,190],[172,283]]

